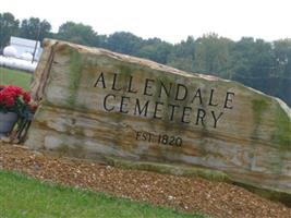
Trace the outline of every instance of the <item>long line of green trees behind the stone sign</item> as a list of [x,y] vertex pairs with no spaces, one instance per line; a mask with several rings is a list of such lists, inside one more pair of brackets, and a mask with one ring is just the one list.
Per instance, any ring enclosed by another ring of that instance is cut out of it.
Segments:
[[291,106],[291,38],[265,41],[242,37],[233,41],[210,33],[173,45],[126,32],[100,35],[92,26],[74,22],[65,22],[52,33],[46,20],[19,21],[11,13],[0,13],[0,49],[9,44],[10,36],[62,39],[146,58],[187,72],[238,81]]

